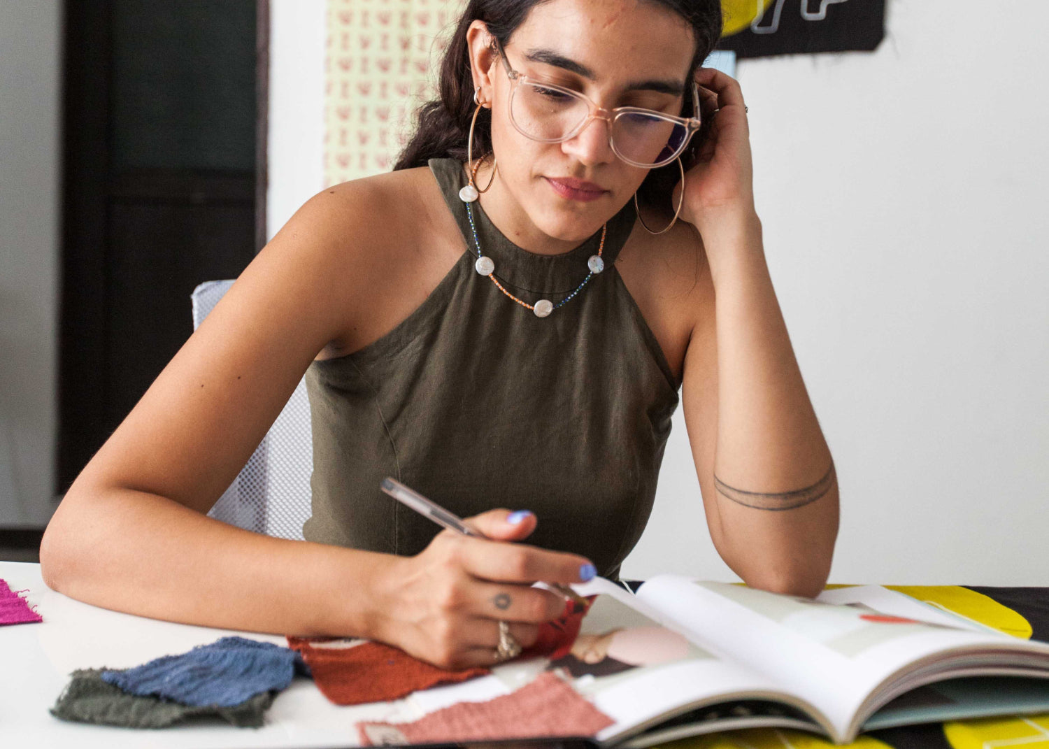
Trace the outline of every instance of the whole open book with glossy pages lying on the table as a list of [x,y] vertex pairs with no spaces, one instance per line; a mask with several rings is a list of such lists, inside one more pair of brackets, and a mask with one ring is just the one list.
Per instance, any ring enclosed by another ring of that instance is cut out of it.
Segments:
[[563,709],[578,699],[604,719],[579,733],[625,749],[763,726],[844,744],[877,728],[1049,710],[1049,644],[879,585],[816,600],[676,575],[651,578],[637,595],[601,578],[574,587],[597,597],[571,652],[415,692],[416,714],[551,673],[572,687]]

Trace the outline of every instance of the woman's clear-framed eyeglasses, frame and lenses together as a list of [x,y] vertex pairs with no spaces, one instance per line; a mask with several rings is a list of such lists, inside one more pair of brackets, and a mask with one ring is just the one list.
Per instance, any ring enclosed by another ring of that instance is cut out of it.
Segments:
[[[700,117],[679,117],[642,107],[599,107],[580,91],[514,70],[499,40],[493,45],[510,79],[510,122],[522,135],[541,143],[569,141],[594,120],[608,123],[613,152],[635,167],[662,167],[681,155],[700,129]],[[700,92],[692,81],[692,111]]]

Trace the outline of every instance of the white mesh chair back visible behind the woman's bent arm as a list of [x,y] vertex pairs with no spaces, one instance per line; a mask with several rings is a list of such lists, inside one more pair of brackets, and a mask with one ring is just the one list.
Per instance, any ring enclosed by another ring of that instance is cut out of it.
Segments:
[[[232,280],[206,281],[193,290],[194,330],[231,285]],[[313,470],[309,400],[306,383],[300,380],[277,421],[208,514],[267,536],[301,539],[302,523],[311,513]]]

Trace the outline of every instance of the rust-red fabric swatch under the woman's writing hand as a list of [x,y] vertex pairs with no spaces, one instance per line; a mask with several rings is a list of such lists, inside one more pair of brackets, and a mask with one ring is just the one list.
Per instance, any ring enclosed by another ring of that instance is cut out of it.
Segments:
[[448,671],[381,642],[288,637],[287,644],[302,654],[317,687],[336,705],[400,700],[419,689],[490,672],[487,668]]

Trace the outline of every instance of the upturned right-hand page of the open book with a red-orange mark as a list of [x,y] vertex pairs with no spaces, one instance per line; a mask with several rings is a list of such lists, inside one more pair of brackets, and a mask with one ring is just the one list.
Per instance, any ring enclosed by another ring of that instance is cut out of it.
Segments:
[[[1023,658],[1024,649],[1049,656],[1043,645],[885,614],[857,600],[833,605],[672,575],[652,578],[638,598],[679,622],[695,642],[817,705],[842,737],[857,712],[870,708],[864,703],[879,684],[916,661],[966,649],[996,652],[1006,661],[1010,649],[1015,658]],[[944,668],[942,661],[930,660],[924,664],[925,681]]]

